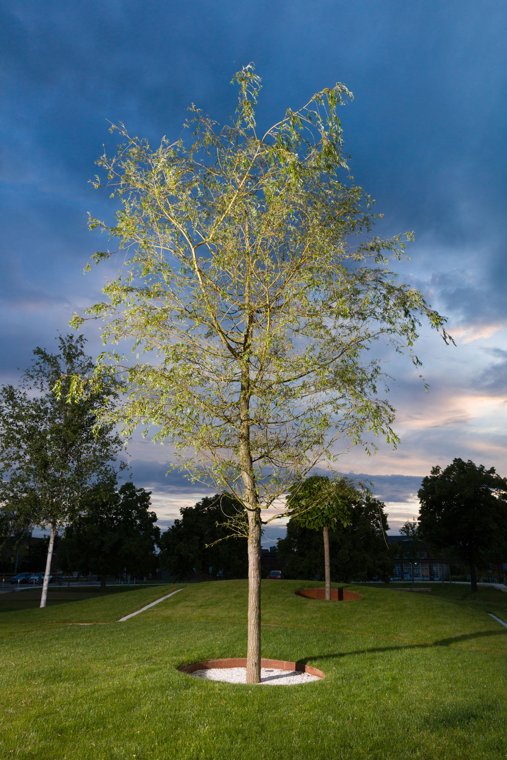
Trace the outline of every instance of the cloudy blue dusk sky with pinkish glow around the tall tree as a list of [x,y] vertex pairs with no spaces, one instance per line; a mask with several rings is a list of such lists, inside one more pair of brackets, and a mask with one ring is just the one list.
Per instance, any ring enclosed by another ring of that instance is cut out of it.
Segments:
[[[100,295],[107,268],[83,268],[103,247],[87,212],[110,222],[115,211],[88,182],[103,144],[116,147],[108,120],[152,144],[182,135],[192,102],[226,120],[230,79],[252,61],[261,124],[336,81],[353,91],[340,114],[352,173],[384,214],[379,233],[414,230],[401,277],[456,341],[423,328],[429,393],[409,362],[391,362],[401,444],[373,458],[356,448],[337,470],[372,480],[394,529],[417,514],[436,464],[461,457],[507,475],[506,17],[503,0],[4,3],[0,382],[17,382],[33,348],[52,350],[71,312]],[[97,355],[99,325],[83,331]],[[204,495],[165,477],[167,447],[136,439],[128,452],[161,525]]]

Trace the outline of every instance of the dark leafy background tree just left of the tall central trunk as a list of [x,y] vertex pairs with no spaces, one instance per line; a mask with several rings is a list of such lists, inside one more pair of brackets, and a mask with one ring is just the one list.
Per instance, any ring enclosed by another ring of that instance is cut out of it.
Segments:
[[225,494],[202,499],[194,507],[180,509],[181,520],[160,537],[160,564],[175,578],[192,572],[223,578],[246,578],[247,538],[230,535],[230,520],[237,521],[242,505]]

